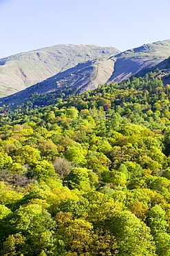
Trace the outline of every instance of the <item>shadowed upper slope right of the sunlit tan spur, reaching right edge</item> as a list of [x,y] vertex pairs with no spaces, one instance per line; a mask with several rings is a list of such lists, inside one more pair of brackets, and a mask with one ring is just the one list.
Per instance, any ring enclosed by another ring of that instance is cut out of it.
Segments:
[[142,68],[151,68],[170,56],[170,40],[144,44],[116,57],[114,72],[108,82],[120,82],[138,73]]

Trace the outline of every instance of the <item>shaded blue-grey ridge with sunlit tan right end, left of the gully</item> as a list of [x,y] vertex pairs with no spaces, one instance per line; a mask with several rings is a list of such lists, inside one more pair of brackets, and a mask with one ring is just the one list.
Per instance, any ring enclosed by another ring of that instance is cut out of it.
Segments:
[[107,82],[113,69],[114,60],[107,58],[83,62],[23,91],[1,98],[1,104],[8,104],[9,102],[15,105],[21,104],[34,92],[51,93],[67,88],[76,90],[77,93],[83,93],[83,91],[96,89],[98,84]]

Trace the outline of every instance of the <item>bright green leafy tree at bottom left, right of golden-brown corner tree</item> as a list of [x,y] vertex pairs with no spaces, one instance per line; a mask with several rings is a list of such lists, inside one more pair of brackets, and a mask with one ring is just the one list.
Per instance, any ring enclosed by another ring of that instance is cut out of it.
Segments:
[[42,210],[41,205],[20,206],[10,219],[10,225],[16,232],[27,237],[29,256],[39,255],[42,250],[47,255],[52,254],[55,249],[52,230],[56,227],[56,223],[49,212]]

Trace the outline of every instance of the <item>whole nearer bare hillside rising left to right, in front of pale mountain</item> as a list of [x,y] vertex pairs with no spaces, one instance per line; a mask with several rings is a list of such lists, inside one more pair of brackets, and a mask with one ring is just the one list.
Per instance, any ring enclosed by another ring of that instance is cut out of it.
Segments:
[[[160,77],[164,84],[169,84],[169,64],[164,60],[170,55],[170,40],[147,44],[134,48],[113,57],[100,57],[96,60],[81,62],[78,65],[57,73],[56,75],[1,98],[1,104],[21,104],[32,93],[52,93],[67,89],[75,93],[96,89],[98,85],[120,82],[131,75],[145,75],[147,71],[158,68],[156,77]],[[161,71],[165,68],[164,72]]]

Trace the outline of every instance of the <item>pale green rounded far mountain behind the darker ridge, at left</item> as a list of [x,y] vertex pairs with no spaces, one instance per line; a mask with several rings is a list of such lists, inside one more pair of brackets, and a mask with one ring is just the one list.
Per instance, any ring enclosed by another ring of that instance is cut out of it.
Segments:
[[114,47],[61,44],[0,59],[0,96],[26,89],[80,62],[118,53]]

